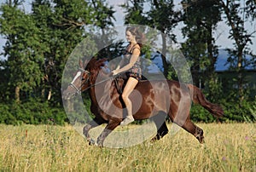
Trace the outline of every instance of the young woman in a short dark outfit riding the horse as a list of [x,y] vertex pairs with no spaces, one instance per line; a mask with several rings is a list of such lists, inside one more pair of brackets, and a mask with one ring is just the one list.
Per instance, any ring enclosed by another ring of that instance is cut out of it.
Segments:
[[120,125],[127,125],[134,121],[132,117],[132,105],[129,95],[131,95],[132,90],[136,87],[139,80],[142,78],[142,69],[140,62],[140,54],[143,42],[143,34],[138,31],[137,27],[127,27],[125,31],[125,37],[129,42],[126,49],[125,58],[126,61],[124,66],[117,67],[112,71],[113,75],[125,72],[128,76],[125,89],[122,94],[122,98],[125,102],[127,109],[127,117],[120,123]]

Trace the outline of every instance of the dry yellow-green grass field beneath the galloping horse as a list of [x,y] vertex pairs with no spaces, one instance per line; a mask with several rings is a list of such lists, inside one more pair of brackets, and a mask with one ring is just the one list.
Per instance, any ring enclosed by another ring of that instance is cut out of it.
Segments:
[[198,125],[203,145],[181,129],[119,149],[89,146],[72,126],[0,125],[0,171],[256,171],[255,123]]

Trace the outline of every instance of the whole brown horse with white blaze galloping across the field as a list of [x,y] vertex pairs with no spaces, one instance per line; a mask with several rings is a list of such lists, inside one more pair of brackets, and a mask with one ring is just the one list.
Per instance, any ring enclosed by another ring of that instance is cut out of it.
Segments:
[[[84,126],[83,133],[90,142],[92,140],[90,139],[89,130],[102,123],[108,123],[96,140],[96,144],[99,146],[103,146],[105,138],[125,118],[125,106],[114,80],[108,79],[111,77],[107,77],[105,80],[96,82],[97,78],[102,75],[101,70],[102,66],[104,66],[104,61],[96,60],[95,58],[90,60],[88,64],[80,61],[80,69],[76,78],[63,92],[63,98],[68,100],[76,93],[89,89],[90,111],[95,115],[95,118]],[[157,91],[154,88],[157,88]],[[153,140],[159,140],[168,133],[165,122],[166,115],[168,115],[173,123],[177,123],[190,134],[195,135],[195,138],[200,143],[203,143],[203,130],[192,123],[189,118],[191,100],[194,103],[199,103],[217,118],[222,117],[224,114],[220,106],[207,101],[201,90],[192,84],[171,80],[165,82],[161,80],[150,82],[145,80],[137,84],[136,91],[141,94],[142,100],[139,102],[140,106],[137,106],[137,97],[131,97],[133,109],[136,109],[133,117],[136,120],[152,118],[158,129],[157,135]],[[109,95],[110,101],[104,98],[106,97],[105,95]]]

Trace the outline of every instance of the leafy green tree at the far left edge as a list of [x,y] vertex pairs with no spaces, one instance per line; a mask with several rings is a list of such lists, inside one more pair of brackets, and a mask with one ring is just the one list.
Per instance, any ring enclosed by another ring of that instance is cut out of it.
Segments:
[[[23,94],[31,94],[41,84],[44,73],[44,49],[41,49],[39,30],[32,16],[18,8],[18,3],[3,4],[0,22],[1,32],[7,43],[4,55],[8,57],[6,70],[9,78],[9,96],[20,101],[20,90]],[[6,95],[8,96],[8,95]]]

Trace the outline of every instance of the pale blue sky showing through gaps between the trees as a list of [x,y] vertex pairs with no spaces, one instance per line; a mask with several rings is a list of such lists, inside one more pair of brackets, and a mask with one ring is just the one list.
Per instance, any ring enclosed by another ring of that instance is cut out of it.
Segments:
[[[113,9],[116,11],[116,13],[114,14],[114,17],[116,19],[116,21],[114,21],[114,25],[116,26],[122,26],[124,23],[125,11],[124,9],[119,7],[119,5],[125,2],[126,0],[108,0],[108,4],[112,5]],[[174,3],[176,5],[175,7],[177,9],[182,8],[179,2],[180,1],[178,0],[174,0]],[[31,3],[32,3],[32,0],[25,0],[25,3],[22,8],[24,8],[27,12],[29,12],[31,10],[31,5],[30,5]],[[249,32],[256,31],[256,21],[254,22],[253,25],[247,23],[246,26]],[[185,40],[181,34],[182,27],[183,25],[180,24],[173,31],[173,33],[177,35],[177,43],[183,43]],[[223,21],[219,22],[217,31],[213,33],[216,39],[216,44],[219,46],[219,49],[234,48],[232,44],[233,42],[228,38],[229,31],[230,31],[230,26],[227,26]],[[4,43],[5,43],[5,40],[3,39],[3,37],[0,36],[0,52],[1,53],[3,53]],[[256,54],[255,45],[256,45],[256,33],[254,33],[253,45],[249,46],[253,50],[254,54]]]

